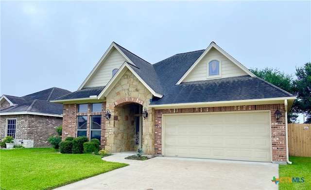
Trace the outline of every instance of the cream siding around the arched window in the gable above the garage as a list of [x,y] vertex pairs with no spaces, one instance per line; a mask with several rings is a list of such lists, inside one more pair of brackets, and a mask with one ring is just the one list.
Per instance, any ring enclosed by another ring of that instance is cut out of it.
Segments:
[[225,57],[222,53],[212,48],[198,65],[190,72],[183,82],[204,81],[207,78],[207,64],[212,60],[221,62],[222,78],[247,75],[242,69]]

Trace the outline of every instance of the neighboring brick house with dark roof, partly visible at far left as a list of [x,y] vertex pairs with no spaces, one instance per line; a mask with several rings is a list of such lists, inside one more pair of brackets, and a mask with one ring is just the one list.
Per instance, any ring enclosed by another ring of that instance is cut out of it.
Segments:
[[2,95],[0,98],[0,138],[12,136],[15,144],[49,147],[48,138],[56,136],[63,122],[63,105],[51,103],[70,91],[52,87],[22,97]]

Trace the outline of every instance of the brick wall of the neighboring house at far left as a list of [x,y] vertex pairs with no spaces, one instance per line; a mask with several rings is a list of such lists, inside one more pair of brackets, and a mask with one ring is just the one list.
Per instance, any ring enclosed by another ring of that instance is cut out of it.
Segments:
[[6,120],[17,119],[15,143],[20,140],[29,147],[51,147],[48,138],[57,136],[56,128],[62,125],[62,118],[38,115],[1,116],[0,138],[5,138]]

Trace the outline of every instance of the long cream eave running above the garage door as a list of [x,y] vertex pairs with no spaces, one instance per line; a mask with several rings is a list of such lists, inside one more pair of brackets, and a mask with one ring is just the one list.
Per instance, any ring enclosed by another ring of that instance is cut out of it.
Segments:
[[198,103],[182,103],[182,104],[160,104],[160,105],[149,104],[149,107],[155,109],[168,109],[168,108],[217,107],[217,106],[234,106],[234,105],[284,104],[284,100],[292,100],[294,102],[294,100],[296,100],[296,97],[292,96],[280,98],[233,100],[233,101],[219,101],[219,102],[198,102]]

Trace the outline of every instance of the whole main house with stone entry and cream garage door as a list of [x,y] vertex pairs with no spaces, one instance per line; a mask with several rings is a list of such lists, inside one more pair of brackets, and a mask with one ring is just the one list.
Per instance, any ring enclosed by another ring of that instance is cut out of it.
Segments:
[[295,99],[214,42],[153,65],[113,42],[77,91],[51,102],[64,104],[63,140],[98,138],[113,153],[139,145],[150,155],[284,163]]

